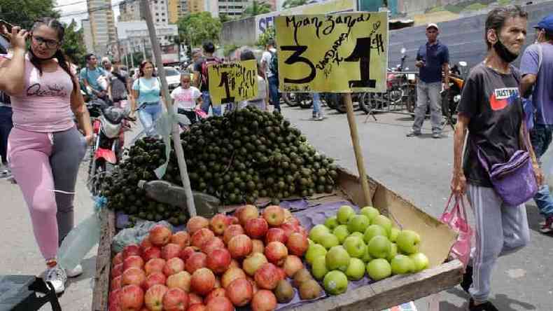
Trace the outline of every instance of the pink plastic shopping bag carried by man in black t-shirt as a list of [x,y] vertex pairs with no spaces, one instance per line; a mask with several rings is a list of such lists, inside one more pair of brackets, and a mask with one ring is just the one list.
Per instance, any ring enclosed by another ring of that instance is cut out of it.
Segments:
[[[453,206],[449,209],[452,198],[455,198],[455,200]],[[470,243],[473,230],[468,224],[463,196],[454,197],[453,193],[451,193],[444,212],[440,217],[440,221],[447,224],[451,230],[458,233],[457,240],[455,244],[453,244],[453,247],[451,247],[449,255],[461,261],[466,268],[468,261],[470,261]]]

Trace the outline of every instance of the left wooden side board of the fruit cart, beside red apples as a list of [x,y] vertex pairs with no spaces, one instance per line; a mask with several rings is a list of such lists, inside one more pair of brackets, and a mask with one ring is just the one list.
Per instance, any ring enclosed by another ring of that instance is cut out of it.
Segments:
[[100,212],[100,241],[96,256],[96,276],[92,291],[92,311],[108,310],[109,274],[111,270],[111,241],[116,234],[116,216],[107,208]]

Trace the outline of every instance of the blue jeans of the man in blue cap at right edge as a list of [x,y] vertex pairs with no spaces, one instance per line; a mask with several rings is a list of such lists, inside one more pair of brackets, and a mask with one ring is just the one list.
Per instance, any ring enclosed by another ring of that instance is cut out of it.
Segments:
[[[552,125],[543,124],[535,124],[534,128],[530,130],[530,141],[537,158],[541,158],[549,147],[549,144],[551,144],[552,130]],[[540,214],[545,218],[553,216],[553,198],[549,193],[549,186],[547,184],[540,187],[538,193],[534,195],[534,201],[538,205],[538,209],[540,209]]]

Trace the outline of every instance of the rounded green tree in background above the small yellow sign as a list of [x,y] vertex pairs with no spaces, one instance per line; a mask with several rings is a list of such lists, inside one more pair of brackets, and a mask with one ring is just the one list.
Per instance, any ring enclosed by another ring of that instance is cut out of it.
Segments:
[[177,22],[179,33],[190,47],[200,46],[204,41],[219,41],[221,21],[212,18],[211,13],[192,13],[179,18]]

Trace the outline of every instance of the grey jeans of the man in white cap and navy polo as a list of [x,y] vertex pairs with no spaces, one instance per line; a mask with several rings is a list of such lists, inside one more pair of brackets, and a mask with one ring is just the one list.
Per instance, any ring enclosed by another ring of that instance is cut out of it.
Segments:
[[419,81],[416,85],[416,108],[415,121],[413,123],[413,132],[420,133],[421,127],[426,116],[426,110],[430,103],[430,121],[432,123],[433,134],[442,132],[442,106],[440,100],[440,90],[442,83],[426,83]]

